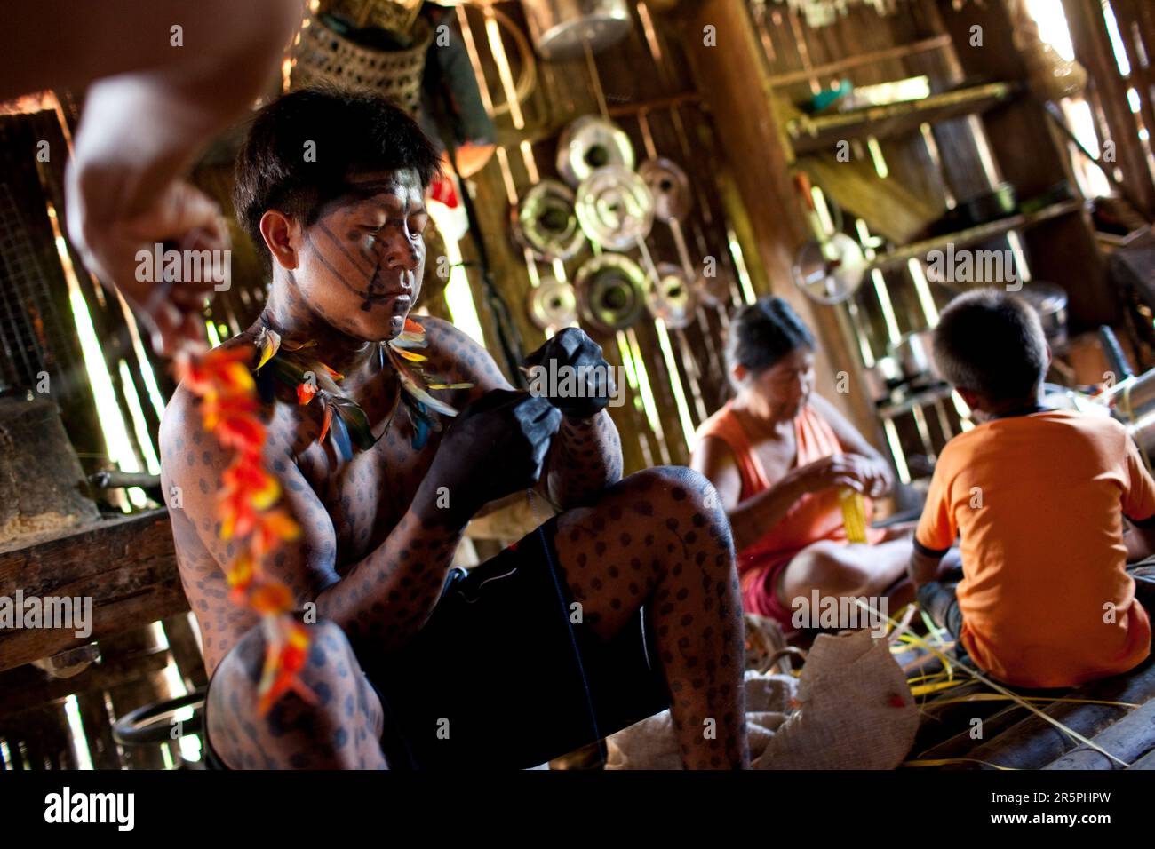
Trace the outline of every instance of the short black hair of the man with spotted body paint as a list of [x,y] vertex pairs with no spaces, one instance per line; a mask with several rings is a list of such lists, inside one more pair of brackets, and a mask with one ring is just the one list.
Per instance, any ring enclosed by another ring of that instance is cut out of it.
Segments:
[[[315,162],[306,161],[306,144]],[[280,209],[304,226],[344,194],[351,176],[411,167],[422,186],[440,172],[433,143],[409,113],[373,91],[311,85],[261,109],[237,156],[237,221],[260,247],[261,216]]]

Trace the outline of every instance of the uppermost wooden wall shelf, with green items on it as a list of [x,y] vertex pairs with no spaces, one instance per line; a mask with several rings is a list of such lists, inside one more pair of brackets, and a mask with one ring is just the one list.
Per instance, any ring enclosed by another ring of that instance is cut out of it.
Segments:
[[797,116],[787,121],[787,136],[796,155],[817,154],[829,150],[840,141],[866,136],[886,139],[916,131],[923,124],[978,114],[1009,100],[1015,91],[1011,83],[996,82],[885,106]]

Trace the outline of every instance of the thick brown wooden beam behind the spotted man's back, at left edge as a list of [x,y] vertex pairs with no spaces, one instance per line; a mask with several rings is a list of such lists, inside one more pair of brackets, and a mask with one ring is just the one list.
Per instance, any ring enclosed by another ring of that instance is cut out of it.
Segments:
[[91,634],[0,630],[0,670],[188,610],[166,509],[105,519],[49,538],[0,546],[0,597],[91,599]]

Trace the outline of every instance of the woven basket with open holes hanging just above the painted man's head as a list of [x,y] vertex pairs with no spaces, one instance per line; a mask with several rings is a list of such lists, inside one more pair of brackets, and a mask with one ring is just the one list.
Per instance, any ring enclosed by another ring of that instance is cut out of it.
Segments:
[[350,42],[314,17],[300,32],[300,44],[293,54],[291,88],[315,82],[368,88],[416,114],[420,107],[425,52],[433,40],[433,29],[419,17],[412,35],[413,46],[408,50],[372,50]]

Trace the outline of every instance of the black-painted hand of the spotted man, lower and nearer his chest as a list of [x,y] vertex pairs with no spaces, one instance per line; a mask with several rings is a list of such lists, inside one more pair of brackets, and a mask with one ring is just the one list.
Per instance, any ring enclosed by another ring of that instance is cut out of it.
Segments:
[[535,485],[561,412],[545,399],[494,389],[467,407],[446,431],[427,479],[448,487],[455,515]]

